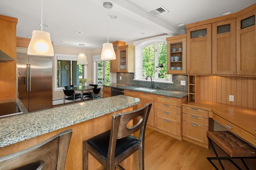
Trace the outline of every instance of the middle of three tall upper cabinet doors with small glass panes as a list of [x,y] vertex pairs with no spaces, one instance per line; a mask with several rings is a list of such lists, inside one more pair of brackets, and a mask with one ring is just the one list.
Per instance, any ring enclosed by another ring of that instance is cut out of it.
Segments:
[[236,19],[212,23],[212,74],[236,74]]

